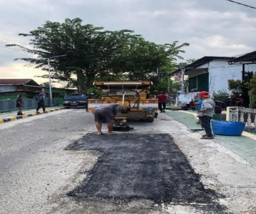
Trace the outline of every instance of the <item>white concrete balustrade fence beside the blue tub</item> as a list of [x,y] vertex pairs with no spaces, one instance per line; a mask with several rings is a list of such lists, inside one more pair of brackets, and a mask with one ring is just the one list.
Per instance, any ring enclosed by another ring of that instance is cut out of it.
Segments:
[[227,107],[226,120],[234,122],[246,122],[248,127],[256,127],[255,121],[256,109]]

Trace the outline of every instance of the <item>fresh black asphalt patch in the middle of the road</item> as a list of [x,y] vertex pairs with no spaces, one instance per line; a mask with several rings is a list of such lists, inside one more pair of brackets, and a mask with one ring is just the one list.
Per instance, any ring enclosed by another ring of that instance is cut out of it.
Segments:
[[67,195],[156,203],[194,204],[223,213],[222,197],[205,189],[200,176],[169,134],[87,134],[69,150],[102,152],[87,178]]

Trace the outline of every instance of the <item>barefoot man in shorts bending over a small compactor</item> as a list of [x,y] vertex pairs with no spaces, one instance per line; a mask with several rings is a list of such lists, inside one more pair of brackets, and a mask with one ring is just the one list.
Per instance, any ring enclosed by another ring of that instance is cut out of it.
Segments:
[[120,104],[104,104],[96,108],[94,111],[94,119],[96,121],[97,135],[102,135],[101,127],[102,122],[106,121],[108,123],[108,135],[114,135],[112,132],[114,126],[114,117],[117,115],[118,111],[122,109]]

